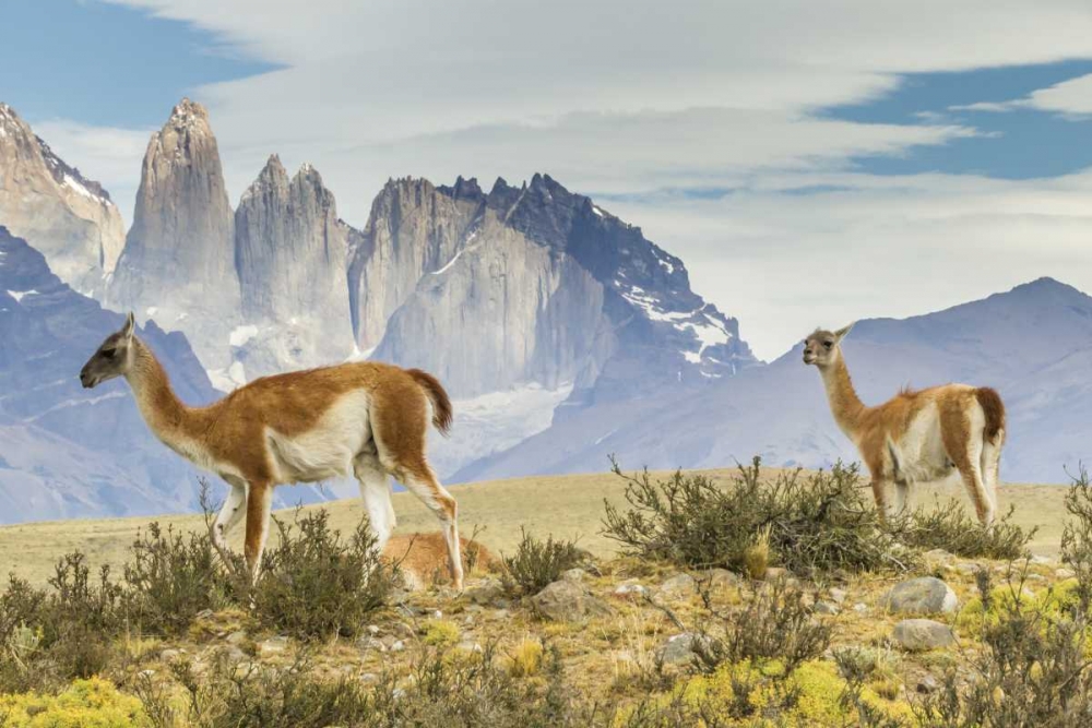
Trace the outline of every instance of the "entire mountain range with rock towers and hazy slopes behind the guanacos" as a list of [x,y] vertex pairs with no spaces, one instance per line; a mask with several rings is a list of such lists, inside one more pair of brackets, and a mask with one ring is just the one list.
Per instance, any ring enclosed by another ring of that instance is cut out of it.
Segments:
[[[392,179],[356,229],[318,170],[289,175],[272,154],[233,207],[209,115],[183,99],[149,142],[122,236],[102,186],[0,105],[0,522],[192,508],[192,473],[123,383],[78,389],[129,309],[191,402],[349,358],[432,371],[455,399],[452,439],[434,439],[454,481],[600,470],[608,453],[631,467],[855,460],[797,350],[758,361],[681,260],[547,175],[488,191]],[[1002,475],[1059,481],[1088,452],[1089,334],[1092,299],[1044,279],[860,322],[845,353],[866,402],[907,383],[996,386]]]

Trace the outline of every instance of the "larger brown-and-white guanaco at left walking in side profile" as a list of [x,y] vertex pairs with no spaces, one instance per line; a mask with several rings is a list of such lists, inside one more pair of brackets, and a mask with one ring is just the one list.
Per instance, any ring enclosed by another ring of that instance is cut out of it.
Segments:
[[273,488],[354,474],[382,551],[395,525],[389,477],[395,477],[440,520],[455,588],[462,588],[458,509],[425,457],[428,405],[447,434],[451,401],[435,377],[418,369],[364,361],[263,377],[205,407],[183,404],[163,366],[134,335],[130,313],[80,372],[85,387],[124,377],[155,435],[232,486],[213,526],[219,549],[242,517],[244,553],[258,578],[269,535]]

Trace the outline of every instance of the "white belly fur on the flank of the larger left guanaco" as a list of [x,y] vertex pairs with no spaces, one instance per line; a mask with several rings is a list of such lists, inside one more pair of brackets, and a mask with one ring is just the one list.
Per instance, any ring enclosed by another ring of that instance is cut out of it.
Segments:
[[265,442],[275,482],[316,482],[353,474],[353,458],[371,439],[367,392],[343,395],[301,434],[287,437],[266,428]]

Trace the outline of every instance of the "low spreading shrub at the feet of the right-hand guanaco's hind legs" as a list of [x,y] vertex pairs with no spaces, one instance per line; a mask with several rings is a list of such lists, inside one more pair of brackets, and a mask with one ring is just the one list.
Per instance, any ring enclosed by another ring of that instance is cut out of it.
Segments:
[[984,528],[961,508],[936,503],[931,509],[917,509],[892,524],[895,536],[906,546],[923,550],[943,549],[968,559],[1002,559],[1012,561],[1028,554],[1028,544],[1037,528],[1024,530],[1011,522],[1013,508]]

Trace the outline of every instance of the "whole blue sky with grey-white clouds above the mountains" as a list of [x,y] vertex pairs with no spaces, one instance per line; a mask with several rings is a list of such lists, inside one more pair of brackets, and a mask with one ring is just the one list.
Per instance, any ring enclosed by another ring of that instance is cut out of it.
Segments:
[[548,172],[680,256],[763,359],[1048,275],[1092,291],[1087,0],[5,0],[0,100],[127,220],[205,104],[233,204],[312,163]]

